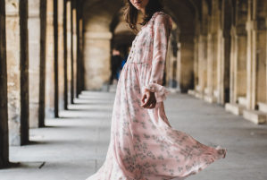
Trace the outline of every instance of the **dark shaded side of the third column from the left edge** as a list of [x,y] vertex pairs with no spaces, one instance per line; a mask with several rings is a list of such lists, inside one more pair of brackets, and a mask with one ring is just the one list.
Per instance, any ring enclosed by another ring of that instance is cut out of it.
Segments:
[[46,116],[46,0],[40,1],[40,81],[38,127],[45,126]]

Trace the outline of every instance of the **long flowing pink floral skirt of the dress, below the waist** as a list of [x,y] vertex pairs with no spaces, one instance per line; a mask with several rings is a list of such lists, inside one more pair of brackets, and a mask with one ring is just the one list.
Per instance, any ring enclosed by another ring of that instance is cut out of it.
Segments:
[[225,157],[220,146],[206,146],[171,128],[163,102],[141,107],[151,66],[126,63],[113,106],[111,141],[104,165],[87,180],[181,180]]

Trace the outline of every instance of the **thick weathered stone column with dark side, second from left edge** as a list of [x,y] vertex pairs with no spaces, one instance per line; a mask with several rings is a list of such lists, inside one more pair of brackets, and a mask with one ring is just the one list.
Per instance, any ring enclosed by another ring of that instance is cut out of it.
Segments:
[[6,49],[10,144],[29,142],[28,1],[7,1]]

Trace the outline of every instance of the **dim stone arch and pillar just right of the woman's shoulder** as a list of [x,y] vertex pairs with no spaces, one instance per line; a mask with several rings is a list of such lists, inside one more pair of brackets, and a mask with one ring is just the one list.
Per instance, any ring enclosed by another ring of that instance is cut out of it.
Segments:
[[[177,77],[178,88],[181,91],[194,89],[194,39],[196,33],[196,8],[190,1],[166,1],[166,8],[172,14],[173,21],[179,29]],[[183,11],[177,11],[177,8]]]

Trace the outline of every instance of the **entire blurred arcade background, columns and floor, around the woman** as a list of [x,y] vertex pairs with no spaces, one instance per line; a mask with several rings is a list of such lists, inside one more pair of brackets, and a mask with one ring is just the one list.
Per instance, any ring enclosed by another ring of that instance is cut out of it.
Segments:
[[[101,166],[136,36],[123,4],[0,1],[1,180],[78,180]],[[266,180],[267,1],[163,4],[173,21],[164,72],[171,124],[229,149],[197,179]]]

